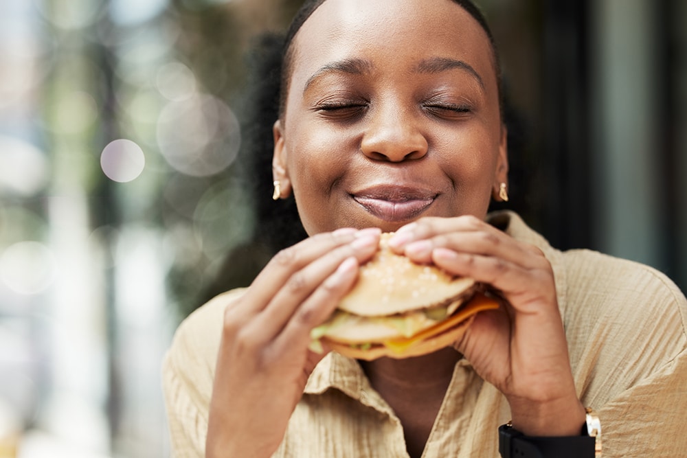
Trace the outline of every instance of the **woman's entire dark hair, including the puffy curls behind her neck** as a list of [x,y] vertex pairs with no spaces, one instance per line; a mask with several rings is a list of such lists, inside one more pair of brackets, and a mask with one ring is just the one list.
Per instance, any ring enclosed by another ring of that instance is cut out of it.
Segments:
[[[263,34],[252,44],[247,62],[249,87],[247,100],[243,109],[243,146],[240,152],[240,163],[243,168],[244,184],[256,208],[256,231],[247,244],[236,247],[227,254],[215,282],[206,291],[207,299],[227,289],[248,286],[269,259],[280,249],[291,247],[307,237],[295,199],[286,198],[273,201],[272,196],[272,125],[280,117],[282,87],[288,84],[284,76],[288,72],[288,55],[293,37],[309,16],[326,0],[306,0],[298,10],[286,35]],[[451,0],[469,12],[486,32],[492,43],[499,83],[499,99],[502,100],[502,119],[508,126],[508,151],[513,159],[509,160],[510,189],[515,190],[515,199],[508,203],[509,208],[517,210],[519,181],[523,173],[519,170],[517,152],[523,148],[526,139],[523,135],[523,119],[508,104],[507,87],[502,84],[496,47],[491,30],[484,16],[469,0]],[[285,63],[286,62],[286,63]],[[514,176],[515,175],[515,176]],[[515,180],[514,180],[515,178]],[[515,181],[515,183],[514,183]],[[515,185],[514,185],[515,184]],[[504,208],[504,204],[492,203],[493,209]]]

